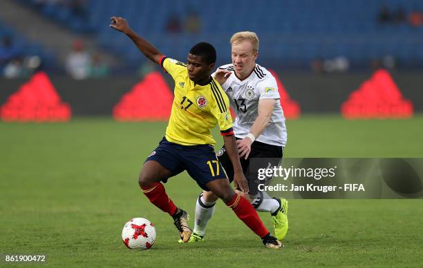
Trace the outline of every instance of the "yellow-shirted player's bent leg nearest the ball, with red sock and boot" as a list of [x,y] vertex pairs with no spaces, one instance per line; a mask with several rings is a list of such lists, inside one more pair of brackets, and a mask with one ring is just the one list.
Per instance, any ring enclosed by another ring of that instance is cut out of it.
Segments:
[[183,168],[181,167],[183,166],[178,160],[177,150],[177,145],[165,140],[161,141],[156,150],[144,162],[138,183],[150,202],[173,218],[181,240],[186,243],[191,236],[191,229],[187,224],[188,214],[174,205],[171,198],[167,196],[164,186],[160,183],[160,181],[167,181],[167,178],[182,172]]

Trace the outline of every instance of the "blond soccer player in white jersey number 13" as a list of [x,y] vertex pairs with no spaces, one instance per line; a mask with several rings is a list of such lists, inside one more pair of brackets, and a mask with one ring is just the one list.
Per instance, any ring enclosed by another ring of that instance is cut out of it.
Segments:
[[[267,167],[269,163],[272,166],[279,165],[283,156],[287,132],[276,79],[256,63],[259,38],[254,32],[237,32],[230,43],[232,64],[220,66],[212,76],[222,85],[236,114],[234,134],[250,189],[244,197],[250,200],[257,211],[270,212],[275,236],[281,241],[288,231],[288,201],[270,198],[266,192],[259,191],[257,172],[250,171],[251,158],[266,158],[262,159],[261,165]],[[225,146],[217,156],[229,180],[232,180],[234,171]],[[238,187],[236,183],[235,187]],[[194,233],[189,242],[203,241],[216,200],[217,196],[212,192],[204,191],[198,197]]]

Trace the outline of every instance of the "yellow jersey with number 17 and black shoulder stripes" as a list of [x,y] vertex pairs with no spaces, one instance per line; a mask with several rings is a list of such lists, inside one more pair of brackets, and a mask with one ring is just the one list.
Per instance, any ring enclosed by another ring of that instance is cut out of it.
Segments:
[[223,136],[234,134],[229,99],[214,78],[210,77],[207,85],[196,85],[189,79],[185,63],[163,56],[160,65],[175,81],[167,141],[180,145],[215,145],[212,129],[216,124]]

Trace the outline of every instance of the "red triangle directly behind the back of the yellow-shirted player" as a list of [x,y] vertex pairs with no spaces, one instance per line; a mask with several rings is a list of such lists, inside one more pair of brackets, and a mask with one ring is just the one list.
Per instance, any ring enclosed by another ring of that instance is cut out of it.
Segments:
[[159,72],[151,72],[113,108],[117,121],[167,121],[173,94]]

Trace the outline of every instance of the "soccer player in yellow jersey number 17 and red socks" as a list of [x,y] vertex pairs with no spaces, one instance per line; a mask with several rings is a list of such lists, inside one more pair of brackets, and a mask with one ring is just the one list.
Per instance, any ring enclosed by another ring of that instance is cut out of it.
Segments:
[[236,216],[261,237],[266,247],[280,248],[282,244],[270,236],[250,202],[236,194],[229,185],[214,153],[213,145],[216,142],[211,130],[217,123],[232,161],[235,185],[248,192],[232,131],[229,100],[210,75],[216,62],[214,47],[204,42],[194,45],[189,50],[185,64],[164,56],[131,30],[126,19],[112,17],[111,20],[111,28],[126,34],[144,56],[160,64],[175,81],[175,96],[166,136],[147,157],[140,172],[138,183],[142,192],[153,205],[172,216],[181,240],[187,243],[191,236],[187,212],[173,204],[160,183],[187,170],[202,189],[213,192],[231,207]]

